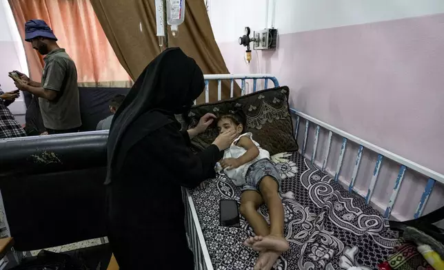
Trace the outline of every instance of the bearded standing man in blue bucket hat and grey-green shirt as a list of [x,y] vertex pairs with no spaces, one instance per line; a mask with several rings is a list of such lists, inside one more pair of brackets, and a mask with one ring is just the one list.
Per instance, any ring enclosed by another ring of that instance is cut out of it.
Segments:
[[25,40],[32,43],[32,48],[46,55],[43,58],[45,67],[41,83],[31,81],[28,76],[16,71],[23,81],[16,81],[17,88],[39,97],[41,116],[48,134],[78,132],[81,118],[74,61],[65,49],[57,45],[57,38],[45,21],[27,21],[25,33]]

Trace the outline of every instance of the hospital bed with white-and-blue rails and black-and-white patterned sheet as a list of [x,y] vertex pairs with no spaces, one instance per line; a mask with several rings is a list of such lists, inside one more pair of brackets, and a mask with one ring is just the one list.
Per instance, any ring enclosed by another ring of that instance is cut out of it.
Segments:
[[[269,74],[206,75],[205,80],[207,103],[211,80],[217,81],[219,101],[224,80],[230,81],[231,96],[234,82],[242,94],[279,87]],[[388,220],[419,218],[443,206],[443,174],[299,112],[291,102],[290,111],[299,152],[272,160],[285,176],[283,188],[296,198],[283,198],[290,250],[274,269],[373,269],[401,243]],[[196,269],[252,269],[258,253],[241,244],[254,235],[252,228],[243,218],[240,229],[218,226],[219,200],[239,201],[240,194],[225,176],[203,190],[183,189]],[[268,218],[264,207],[259,211]]]

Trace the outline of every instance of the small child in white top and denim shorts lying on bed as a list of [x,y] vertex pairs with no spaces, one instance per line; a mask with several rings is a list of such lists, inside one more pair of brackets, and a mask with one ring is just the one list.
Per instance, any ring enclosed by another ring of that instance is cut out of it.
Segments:
[[[270,154],[244,133],[243,116],[228,114],[218,119],[219,133],[235,130],[237,138],[225,150],[221,167],[234,185],[242,186],[240,211],[256,233],[244,245],[261,251],[254,270],[269,270],[281,253],[289,248],[283,237],[284,212],[279,196],[281,175]],[[257,209],[265,203],[270,212],[270,227]]]

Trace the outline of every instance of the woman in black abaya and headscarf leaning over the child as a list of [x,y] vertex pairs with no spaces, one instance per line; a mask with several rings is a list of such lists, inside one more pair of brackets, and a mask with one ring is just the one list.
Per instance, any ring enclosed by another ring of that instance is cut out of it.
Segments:
[[235,134],[221,134],[199,154],[190,137],[212,123],[180,131],[174,114],[190,110],[205,84],[196,62],[179,48],[165,50],[134,83],[108,137],[109,239],[121,270],[194,269],[185,236],[181,187],[214,176]]

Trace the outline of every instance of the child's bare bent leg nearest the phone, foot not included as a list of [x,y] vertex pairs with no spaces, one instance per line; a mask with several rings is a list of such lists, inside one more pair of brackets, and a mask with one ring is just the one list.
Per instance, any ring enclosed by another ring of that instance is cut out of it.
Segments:
[[267,221],[257,211],[262,204],[262,196],[257,191],[243,191],[239,210],[241,211],[241,215],[250,223],[256,236],[268,236],[268,234],[270,234]]

